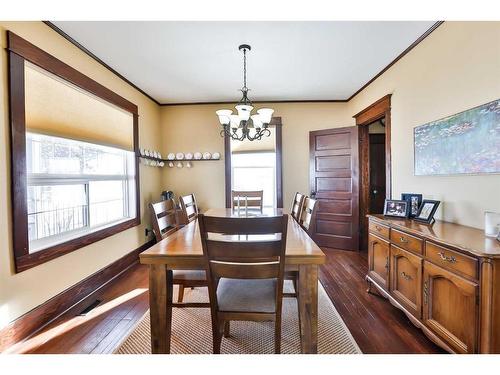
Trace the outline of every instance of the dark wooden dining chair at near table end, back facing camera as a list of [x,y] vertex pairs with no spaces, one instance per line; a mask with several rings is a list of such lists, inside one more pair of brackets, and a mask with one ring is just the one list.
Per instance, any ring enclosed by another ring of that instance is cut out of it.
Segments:
[[[274,351],[280,353],[287,216],[198,216],[214,353],[220,353],[222,336],[229,336],[231,320],[274,321]],[[244,240],[239,240],[241,235]],[[269,239],[252,240],[251,235],[269,235]]]

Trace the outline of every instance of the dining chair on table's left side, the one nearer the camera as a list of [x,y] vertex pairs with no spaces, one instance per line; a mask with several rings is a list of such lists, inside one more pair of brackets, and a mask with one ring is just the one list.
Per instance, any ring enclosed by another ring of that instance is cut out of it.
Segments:
[[[160,242],[164,238],[179,229],[177,224],[177,208],[173,199],[167,199],[157,203],[150,203],[151,223],[153,225],[153,233],[156,242]],[[207,277],[205,271],[198,270],[173,270],[172,283],[179,286],[179,294],[177,296],[177,304],[175,307],[208,307],[198,306],[196,304],[183,303],[184,288],[206,287]]]

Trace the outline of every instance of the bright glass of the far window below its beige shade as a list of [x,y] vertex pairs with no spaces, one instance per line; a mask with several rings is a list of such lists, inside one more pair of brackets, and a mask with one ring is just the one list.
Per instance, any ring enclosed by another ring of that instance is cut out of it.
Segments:
[[264,207],[276,207],[276,153],[231,155],[233,190],[263,190]]

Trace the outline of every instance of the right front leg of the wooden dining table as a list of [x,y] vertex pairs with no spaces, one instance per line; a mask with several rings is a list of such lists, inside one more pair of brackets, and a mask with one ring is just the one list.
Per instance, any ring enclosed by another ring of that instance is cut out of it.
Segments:
[[299,266],[300,344],[302,353],[318,352],[318,266]]

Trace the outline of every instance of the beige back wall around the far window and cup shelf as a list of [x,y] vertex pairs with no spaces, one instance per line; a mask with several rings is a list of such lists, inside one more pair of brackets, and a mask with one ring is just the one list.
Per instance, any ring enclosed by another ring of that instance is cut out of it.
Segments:
[[[296,191],[309,191],[309,131],[349,126],[353,120],[344,103],[272,103],[283,123],[283,203],[289,208]],[[225,105],[162,107],[163,152],[218,151],[224,155],[215,111]],[[163,185],[176,194],[194,192],[202,209],[224,207],[224,161],[193,162],[193,168],[168,168]]]

